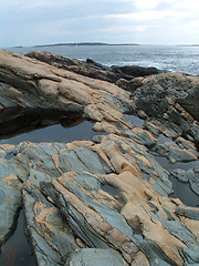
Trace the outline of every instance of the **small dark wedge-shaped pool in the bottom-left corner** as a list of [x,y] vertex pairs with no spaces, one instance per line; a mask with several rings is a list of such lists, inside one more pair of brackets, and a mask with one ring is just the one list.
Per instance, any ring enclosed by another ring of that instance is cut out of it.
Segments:
[[0,265],[35,266],[34,258],[23,228],[23,213],[19,214],[18,225],[13,235],[1,246]]

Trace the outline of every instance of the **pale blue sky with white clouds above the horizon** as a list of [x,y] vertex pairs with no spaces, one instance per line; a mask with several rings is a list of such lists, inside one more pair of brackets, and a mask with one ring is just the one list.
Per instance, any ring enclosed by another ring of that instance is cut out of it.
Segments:
[[198,0],[0,0],[0,47],[199,43]]

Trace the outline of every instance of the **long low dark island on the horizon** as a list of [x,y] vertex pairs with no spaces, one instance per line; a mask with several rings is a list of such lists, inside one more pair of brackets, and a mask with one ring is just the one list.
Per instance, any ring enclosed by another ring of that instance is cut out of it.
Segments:
[[116,47],[116,45],[140,45],[137,43],[104,43],[104,42],[74,42],[74,43],[54,43],[54,44],[42,44],[42,45],[34,45],[35,47],[86,47],[86,45],[108,45],[108,47]]

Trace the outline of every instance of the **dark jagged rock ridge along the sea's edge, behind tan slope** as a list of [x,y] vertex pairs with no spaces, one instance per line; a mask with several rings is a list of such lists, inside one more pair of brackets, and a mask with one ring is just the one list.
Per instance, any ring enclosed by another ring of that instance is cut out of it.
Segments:
[[160,72],[160,70],[157,70],[156,68],[142,68],[136,65],[105,66],[96,63],[91,59],[87,59],[86,62],[82,62],[76,59],[69,59],[62,55],[43,51],[33,51],[28,53],[27,55],[49,63],[59,69],[69,70],[81,75],[90,76],[92,79],[104,80],[112,83],[115,83],[121,79],[129,81],[137,76],[158,74]]

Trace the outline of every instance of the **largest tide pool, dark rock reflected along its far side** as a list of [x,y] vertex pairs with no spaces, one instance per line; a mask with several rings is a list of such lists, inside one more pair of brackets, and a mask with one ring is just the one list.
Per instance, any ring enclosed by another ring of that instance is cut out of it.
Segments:
[[6,121],[0,121],[0,144],[19,144],[23,141],[67,143],[91,140],[96,135],[91,122],[73,116],[43,110],[22,110],[10,114]]

